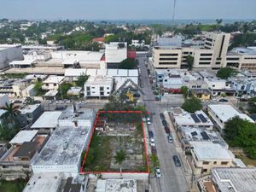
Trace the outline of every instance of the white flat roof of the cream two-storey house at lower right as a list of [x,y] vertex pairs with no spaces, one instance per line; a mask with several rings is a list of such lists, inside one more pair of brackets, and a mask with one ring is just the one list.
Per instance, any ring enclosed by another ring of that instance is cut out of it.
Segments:
[[198,160],[233,160],[234,154],[218,143],[195,142],[192,143],[193,151]]

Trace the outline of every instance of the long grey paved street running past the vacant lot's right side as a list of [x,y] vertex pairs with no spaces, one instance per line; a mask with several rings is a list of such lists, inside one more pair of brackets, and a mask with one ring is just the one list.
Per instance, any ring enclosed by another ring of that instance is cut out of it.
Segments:
[[180,105],[182,101],[175,100],[175,98],[167,99],[167,103],[151,101],[154,100],[154,94],[151,90],[151,84],[149,83],[147,68],[144,65],[145,58],[146,57],[138,56],[137,59],[142,72],[143,91],[145,93],[143,96],[144,103],[148,111],[153,114],[151,116],[152,125],[149,126],[149,130],[154,132],[162,172],[160,179],[152,177],[150,183],[154,191],[186,192],[189,191],[189,187],[184,176],[183,166],[175,166],[172,160],[172,155],[177,154],[175,144],[167,142],[167,135],[160,121],[160,113],[166,111],[167,107]]

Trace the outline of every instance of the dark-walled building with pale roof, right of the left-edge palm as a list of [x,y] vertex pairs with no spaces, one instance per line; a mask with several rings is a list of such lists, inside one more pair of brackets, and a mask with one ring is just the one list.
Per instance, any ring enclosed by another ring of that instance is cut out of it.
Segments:
[[41,104],[26,105],[20,108],[20,115],[17,116],[20,127],[32,125],[43,113]]

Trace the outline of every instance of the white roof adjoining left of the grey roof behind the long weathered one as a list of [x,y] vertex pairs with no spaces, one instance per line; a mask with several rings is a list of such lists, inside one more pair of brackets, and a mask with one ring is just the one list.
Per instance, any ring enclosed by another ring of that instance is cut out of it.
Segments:
[[55,128],[58,124],[58,118],[60,116],[61,111],[46,111],[38,118],[31,128]]

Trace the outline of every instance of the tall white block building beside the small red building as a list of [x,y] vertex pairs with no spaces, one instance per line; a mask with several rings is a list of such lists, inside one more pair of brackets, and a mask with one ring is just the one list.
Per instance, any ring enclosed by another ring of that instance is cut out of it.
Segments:
[[127,58],[127,43],[111,42],[105,44],[105,58],[108,68],[118,68],[121,61]]

